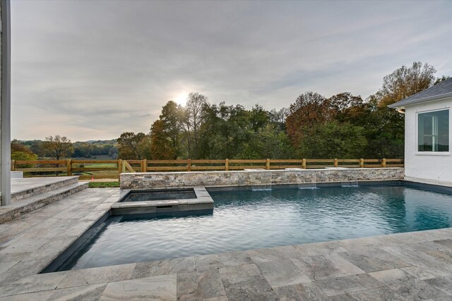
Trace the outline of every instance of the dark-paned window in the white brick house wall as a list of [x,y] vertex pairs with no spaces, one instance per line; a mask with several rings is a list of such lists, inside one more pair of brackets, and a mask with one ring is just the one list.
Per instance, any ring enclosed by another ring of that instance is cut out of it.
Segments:
[[448,152],[449,110],[419,113],[417,118],[417,150]]

